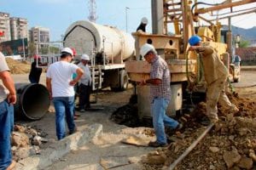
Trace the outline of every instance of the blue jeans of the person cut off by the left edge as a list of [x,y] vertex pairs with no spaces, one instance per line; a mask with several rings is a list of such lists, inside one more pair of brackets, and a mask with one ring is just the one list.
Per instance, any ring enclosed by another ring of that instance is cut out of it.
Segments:
[[14,106],[4,100],[0,103],[0,169],[6,169],[12,161],[10,135],[13,123]]

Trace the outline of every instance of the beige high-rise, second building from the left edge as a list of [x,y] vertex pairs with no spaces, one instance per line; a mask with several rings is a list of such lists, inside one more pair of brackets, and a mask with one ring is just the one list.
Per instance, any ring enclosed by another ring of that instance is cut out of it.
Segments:
[[28,23],[26,19],[11,17],[10,18],[11,39],[17,40],[28,38]]

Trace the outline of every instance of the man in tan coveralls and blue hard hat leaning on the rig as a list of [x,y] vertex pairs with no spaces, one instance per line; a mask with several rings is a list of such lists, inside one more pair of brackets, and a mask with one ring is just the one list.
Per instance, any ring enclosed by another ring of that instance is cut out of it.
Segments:
[[215,49],[211,46],[204,46],[201,37],[192,36],[189,38],[189,51],[201,54],[204,77],[207,82],[207,116],[212,123],[218,122],[217,103],[227,111],[236,113],[239,111],[236,105],[230,103],[230,99],[224,92],[229,71],[219,59]]

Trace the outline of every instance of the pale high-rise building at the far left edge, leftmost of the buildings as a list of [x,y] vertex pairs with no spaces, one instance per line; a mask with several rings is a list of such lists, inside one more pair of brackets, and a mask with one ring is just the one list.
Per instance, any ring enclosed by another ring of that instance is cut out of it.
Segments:
[[0,31],[3,32],[3,37],[0,37],[0,42],[11,40],[9,13],[0,12]]

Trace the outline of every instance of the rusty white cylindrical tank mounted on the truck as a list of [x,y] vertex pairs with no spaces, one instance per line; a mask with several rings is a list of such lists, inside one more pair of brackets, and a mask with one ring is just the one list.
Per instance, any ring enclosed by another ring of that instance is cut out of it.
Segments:
[[111,60],[128,59],[135,53],[134,38],[112,26],[101,26],[79,20],[67,28],[64,46],[75,48],[78,54],[92,54],[92,49],[102,52]]

